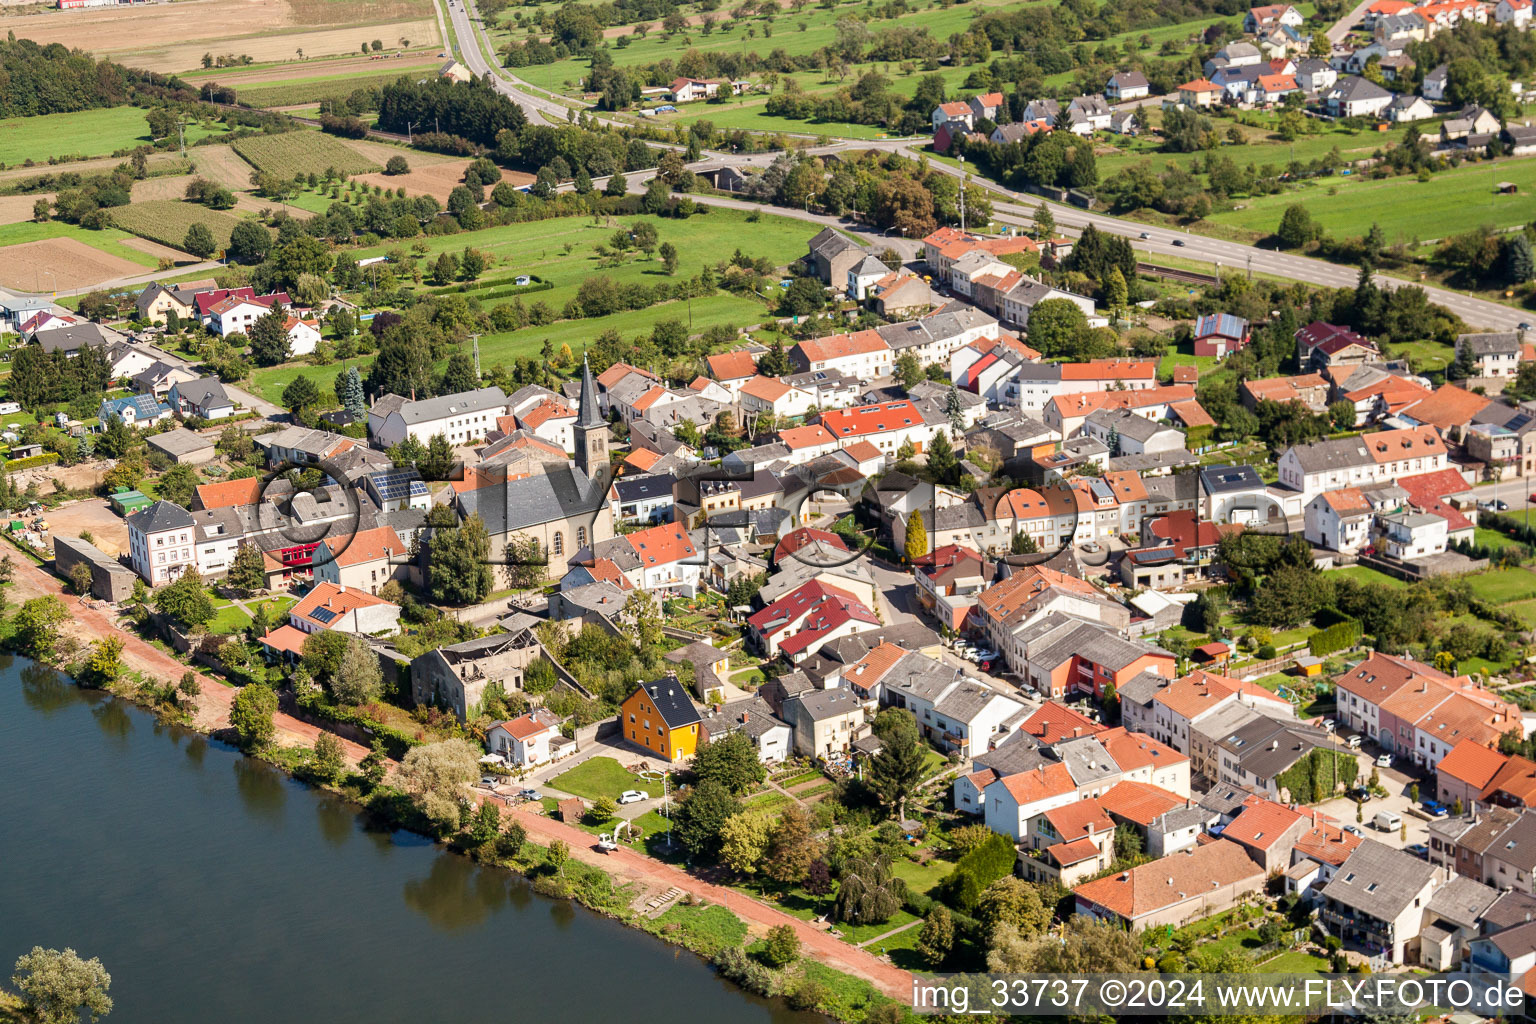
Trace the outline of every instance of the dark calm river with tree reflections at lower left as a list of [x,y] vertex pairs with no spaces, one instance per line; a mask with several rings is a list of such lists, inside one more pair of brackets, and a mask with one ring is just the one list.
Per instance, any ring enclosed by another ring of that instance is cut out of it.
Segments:
[[823,1019],[11,657],[0,866],[0,984],[100,956],[112,1024]]

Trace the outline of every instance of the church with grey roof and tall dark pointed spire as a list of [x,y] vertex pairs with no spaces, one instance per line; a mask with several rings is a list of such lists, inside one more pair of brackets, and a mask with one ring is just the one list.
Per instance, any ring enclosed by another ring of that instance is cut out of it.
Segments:
[[545,576],[559,579],[571,556],[614,536],[608,507],[608,422],[598,408],[598,385],[585,361],[571,431],[573,461],[548,462],[525,474],[508,473],[505,462],[482,462],[475,467],[479,487],[456,494],[459,516],[478,514],[485,520],[492,562],[505,563],[507,545],[515,537],[533,537],[548,557]]

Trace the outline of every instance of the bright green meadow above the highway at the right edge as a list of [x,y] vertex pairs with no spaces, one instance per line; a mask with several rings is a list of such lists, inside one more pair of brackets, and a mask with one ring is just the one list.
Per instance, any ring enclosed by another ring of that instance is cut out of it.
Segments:
[[[1100,164],[1103,167],[1103,164]],[[1496,195],[1495,183],[1513,181],[1514,195]],[[1513,227],[1536,220],[1536,161],[1495,163],[1442,170],[1428,181],[1398,178],[1319,178],[1299,189],[1243,201],[1207,220],[1267,235],[1287,206],[1301,203],[1330,235],[1353,238],[1379,224],[1387,243],[1444,238],[1479,224]]]

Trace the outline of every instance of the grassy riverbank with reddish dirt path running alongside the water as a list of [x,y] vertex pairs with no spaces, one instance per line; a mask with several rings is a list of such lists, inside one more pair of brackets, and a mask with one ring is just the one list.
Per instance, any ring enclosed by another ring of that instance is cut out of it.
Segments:
[[[15,574],[9,590],[17,599],[15,603],[40,596],[58,597],[72,616],[60,626],[60,631],[75,639],[81,646],[112,631],[112,636],[118,636],[124,642],[121,660],[126,672],[174,682],[187,671],[183,662],[160,651],[155,645],[132,633],[117,629],[100,608],[88,605],[78,597],[66,596],[63,585],[40,567],[15,559],[14,562]],[[184,725],[203,734],[226,729],[229,708],[238,689],[212,676],[198,674],[198,677],[203,683],[203,692],[198,697],[195,714],[189,715]],[[112,692],[120,699],[135,700],[137,685],[120,685],[112,688]],[[273,748],[266,752],[263,760],[292,775],[303,765],[301,752],[313,746],[321,731],[283,714],[276,715]],[[353,765],[366,754],[364,748],[347,745],[347,755]],[[306,778],[304,781],[318,786],[313,780]],[[410,827],[413,823],[409,801],[402,794],[387,786],[370,791],[358,780],[339,788],[318,788],[347,798],[356,808],[386,817],[392,826]],[[478,794],[478,797],[484,797],[484,794]],[[745,976],[733,976],[733,979],[743,983],[743,987],[751,992],[786,995],[791,998],[791,1004],[802,1006],[802,1009],[814,1007],[851,1024],[876,1019],[899,1021],[908,1013],[902,999],[911,993],[909,973],[856,946],[833,938],[813,923],[794,918],[739,892],[713,886],[674,866],[628,849],[608,855],[601,854],[593,849],[590,834],[550,818],[505,808],[502,808],[502,815],[504,823],[508,818],[518,820],[527,831],[525,855],[522,851],[518,855],[501,854],[496,840],[472,844],[464,834],[455,837],[449,847],[467,854],[476,863],[521,874],[533,883],[535,892],[541,892],[541,895],[576,900],[598,913],[645,930],[671,944],[691,949],[705,958],[714,956],[725,946],[745,946],[750,955],[753,946],[763,938],[770,927],[788,924],[800,936],[803,950],[800,963],[786,970],[774,972],[753,960],[753,970]],[[421,827],[416,831],[427,832]],[[556,841],[568,846],[570,860],[579,864],[579,869],[550,863],[547,851]],[[574,880],[567,877],[571,874],[576,875]],[[685,897],[665,913],[648,915],[645,903],[653,895],[673,887],[680,889]],[[3,1021],[5,1018],[0,1018],[0,1024]]]

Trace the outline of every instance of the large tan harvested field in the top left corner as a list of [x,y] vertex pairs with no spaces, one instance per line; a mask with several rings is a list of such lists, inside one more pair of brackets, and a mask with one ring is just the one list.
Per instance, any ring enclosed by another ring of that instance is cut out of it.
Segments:
[[280,61],[356,54],[375,38],[392,52],[439,43],[430,0],[241,0],[238,11],[227,0],[178,0],[8,12],[0,32],[161,72],[198,69],[204,54]]

